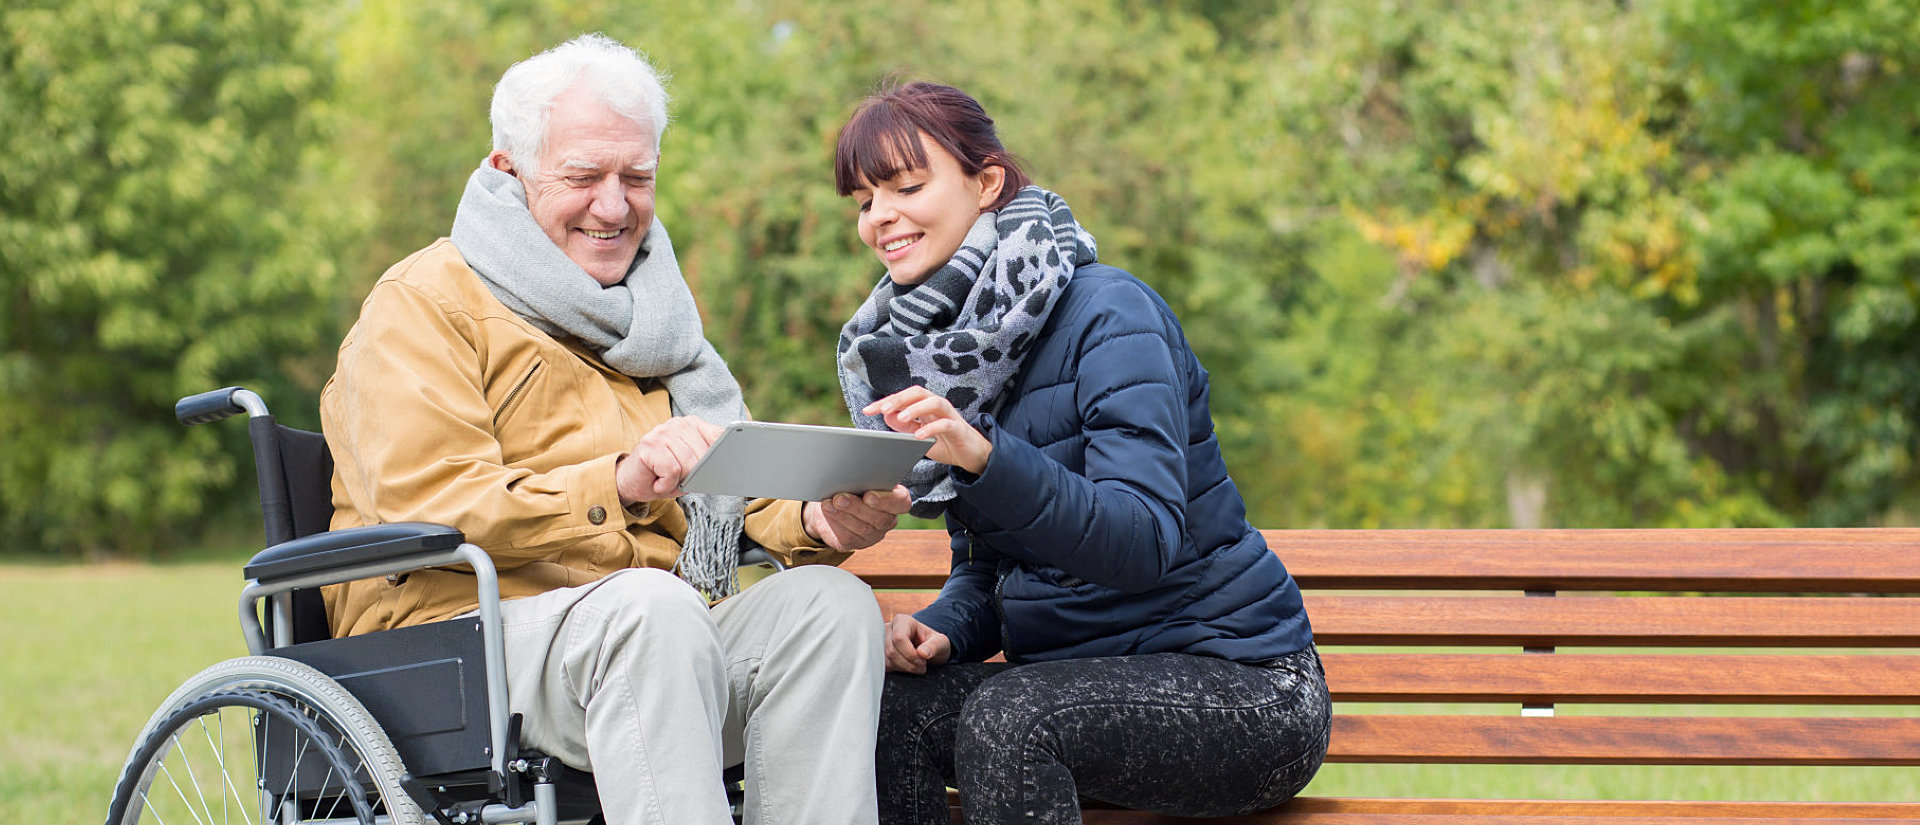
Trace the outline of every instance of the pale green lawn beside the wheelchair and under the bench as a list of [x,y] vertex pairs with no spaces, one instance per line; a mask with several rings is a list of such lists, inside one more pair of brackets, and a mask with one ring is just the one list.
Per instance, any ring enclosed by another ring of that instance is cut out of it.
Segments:
[[[148,714],[190,673],[246,652],[238,560],[0,564],[8,593],[0,601],[0,821],[104,819]],[[1920,769],[1334,764],[1308,792],[1920,802]]]

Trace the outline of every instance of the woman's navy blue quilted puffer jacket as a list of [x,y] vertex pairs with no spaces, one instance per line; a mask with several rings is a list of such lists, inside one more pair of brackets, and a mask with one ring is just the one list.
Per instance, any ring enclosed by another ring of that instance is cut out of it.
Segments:
[[1313,641],[1227,478],[1208,374],[1152,288],[1081,267],[1008,393],[981,422],[985,472],[952,470],[952,574],[916,614],[956,662],[1261,662]]

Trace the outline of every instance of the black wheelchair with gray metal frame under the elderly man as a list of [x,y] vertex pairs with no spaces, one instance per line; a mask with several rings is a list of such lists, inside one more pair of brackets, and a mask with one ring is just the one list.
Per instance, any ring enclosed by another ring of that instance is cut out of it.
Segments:
[[[250,389],[175,405],[182,424],[248,414],[267,549],[248,560],[248,656],[167,696],[134,741],[108,825],[599,821],[593,777],[522,750],[507,710],[499,587],[486,551],[440,524],[328,531],[332,455]],[[751,549],[745,564],[778,562]],[[330,639],[321,587],[463,564],[480,612]],[[728,794],[739,817],[739,771]]]

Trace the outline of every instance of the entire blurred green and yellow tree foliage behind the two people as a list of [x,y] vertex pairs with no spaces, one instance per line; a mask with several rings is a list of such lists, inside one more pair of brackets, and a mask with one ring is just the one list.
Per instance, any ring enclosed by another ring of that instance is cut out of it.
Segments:
[[881,271],[829,161],[902,75],[979,96],[1181,313],[1260,524],[1920,505],[1901,0],[77,0],[0,12],[0,539],[146,553],[246,501],[238,439],[167,405],[250,384],[311,424],[493,81],[582,31],[670,75],[660,217],[764,418],[845,420]]

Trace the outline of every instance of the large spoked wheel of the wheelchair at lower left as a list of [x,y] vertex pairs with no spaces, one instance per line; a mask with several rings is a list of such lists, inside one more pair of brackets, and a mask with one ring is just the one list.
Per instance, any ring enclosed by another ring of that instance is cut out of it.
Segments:
[[324,673],[244,656],[186,679],[134,742],[108,825],[419,825],[380,725]]

